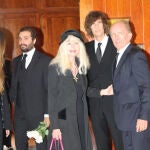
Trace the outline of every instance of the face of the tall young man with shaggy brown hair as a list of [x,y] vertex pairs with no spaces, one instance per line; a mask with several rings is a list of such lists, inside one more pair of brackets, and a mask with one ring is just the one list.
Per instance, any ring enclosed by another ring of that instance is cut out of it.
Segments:
[[104,26],[101,19],[97,19],[92,25],[91,30],[95,38],[103,37],[104,33]]

